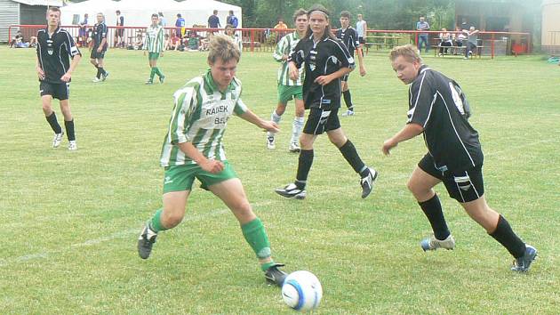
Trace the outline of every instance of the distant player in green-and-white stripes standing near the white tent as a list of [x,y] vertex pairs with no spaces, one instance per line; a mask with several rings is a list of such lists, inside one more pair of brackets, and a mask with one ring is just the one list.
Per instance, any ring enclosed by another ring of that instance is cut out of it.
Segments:
[[159,68],[157,68],[157,59],[159,56],[164,57],[164,28],[159,25],[159,17],[156,13],[152,14],[152,24],[148,26],[146,30],[144,49],[144,56],[148,51],[149,68],[152,69],[146,84],[154,84],[154,76],[156,75],[159,77],[159,82],[164,83],[165,76]]

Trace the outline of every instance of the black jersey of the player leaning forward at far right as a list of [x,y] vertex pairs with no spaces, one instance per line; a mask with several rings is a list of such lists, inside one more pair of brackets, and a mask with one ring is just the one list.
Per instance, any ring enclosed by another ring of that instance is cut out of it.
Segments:
[[436,167],[459,171],[482,166],[478,133],[468,124],[468,116],[459,85],[422,66],[409,89],[408,123],[424,127],[424,141]]

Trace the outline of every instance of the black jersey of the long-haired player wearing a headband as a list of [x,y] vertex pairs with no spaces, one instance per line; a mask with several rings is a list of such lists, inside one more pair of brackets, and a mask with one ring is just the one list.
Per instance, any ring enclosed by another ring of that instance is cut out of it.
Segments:
[[314,43],[313,35],[302,38],[288,61],[295,62],[298,68],[305,63],[303,101],[306,109],[340,108],[340,78],[332,80],[328,85],[315,83],[317,77],[330,75],[340,68],[354,69],[354,58],[340,40],[327,36]]

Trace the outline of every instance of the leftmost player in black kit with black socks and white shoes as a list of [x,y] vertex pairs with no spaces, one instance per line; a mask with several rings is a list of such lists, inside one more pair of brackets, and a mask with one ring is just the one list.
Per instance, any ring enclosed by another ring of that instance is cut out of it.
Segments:
[[[74,117],[70,111],[69,90],[72,72],[82,54],[76,47],[72,36],[66,29],[61,29],[60,9],[50,7],[46,13],[47,28],[37,33],[36,71],[39,77],[39,89],[43,112],[47,122],[54,132],[52,148],[58,148],[64,132],[52,110],[52,99],[59,99],[60,111],[64,115],[64,127],[68,136],[68,149],[76,150],[76,134],[74,132]],[[69,58],[72,58],[70,63]]]

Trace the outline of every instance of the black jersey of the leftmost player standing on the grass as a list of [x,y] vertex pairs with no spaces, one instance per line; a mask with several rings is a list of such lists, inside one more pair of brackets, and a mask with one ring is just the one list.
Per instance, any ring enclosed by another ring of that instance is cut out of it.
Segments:
[[69,57],[82,55],[72,36],[62,28],[56,28],[52,36],[49,35],[48,28],[39,29],[36,52],[39,66],[44,71],[42,81],[54,84],[65,83],[60,77],[70,68]]

